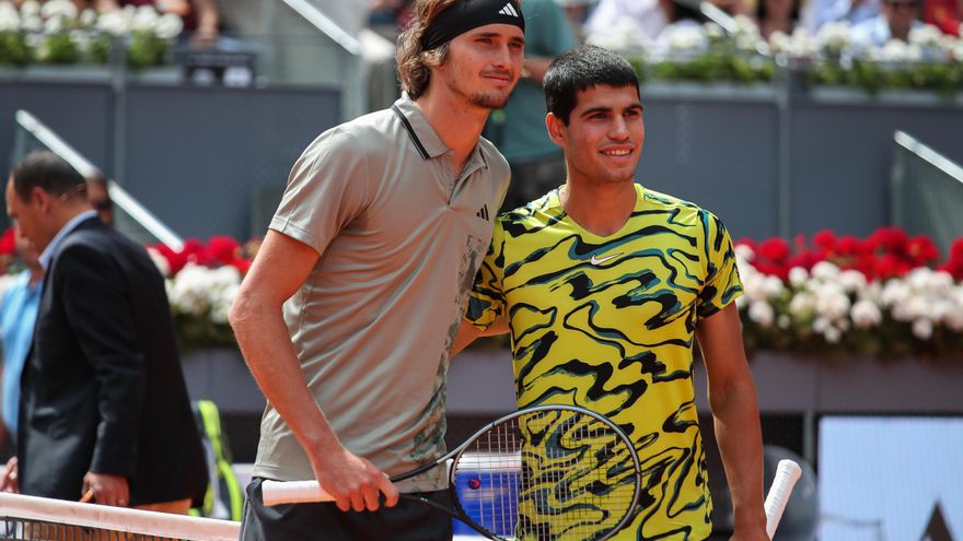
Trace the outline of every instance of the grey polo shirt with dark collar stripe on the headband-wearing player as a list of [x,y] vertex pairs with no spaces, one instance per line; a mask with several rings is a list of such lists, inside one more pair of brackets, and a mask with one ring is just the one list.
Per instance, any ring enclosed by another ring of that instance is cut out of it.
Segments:
[[[444,454],[452,340],[508,183],[484,139],[456,172],[407,97],[322,133],[291,170],[270,228],[321,257],[285,320],[341,443],[391,475]],[[438,473],[401,489],[444,487]],[[314,479],[270,404],[254,474]]]

